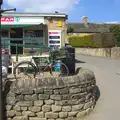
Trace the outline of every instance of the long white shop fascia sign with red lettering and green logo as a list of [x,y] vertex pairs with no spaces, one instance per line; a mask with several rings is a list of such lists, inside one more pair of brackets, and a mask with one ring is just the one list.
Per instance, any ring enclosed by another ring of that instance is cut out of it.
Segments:
[[2,17],[1,24],[44,24],[44,17]]

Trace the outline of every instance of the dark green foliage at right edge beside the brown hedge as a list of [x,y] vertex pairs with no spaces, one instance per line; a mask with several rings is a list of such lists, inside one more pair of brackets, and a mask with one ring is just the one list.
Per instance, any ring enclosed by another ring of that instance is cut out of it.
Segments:
[[110,32],[113,33],[116,42],[117,42],[117,46],[120,46],[120,25],[112,25],[110,27]]

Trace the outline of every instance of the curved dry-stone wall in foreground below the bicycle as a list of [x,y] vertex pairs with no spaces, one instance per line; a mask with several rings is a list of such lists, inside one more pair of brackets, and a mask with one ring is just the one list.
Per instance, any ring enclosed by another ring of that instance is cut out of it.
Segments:
[[5,87],[7,120],[78,120],[96,104],[95,76],[86,69],[64,78],[20,78]]

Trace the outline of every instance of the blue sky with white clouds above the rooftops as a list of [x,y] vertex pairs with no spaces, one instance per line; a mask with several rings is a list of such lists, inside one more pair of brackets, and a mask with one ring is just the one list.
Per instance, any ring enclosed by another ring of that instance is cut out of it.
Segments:
[[62,12],[69,22],[120,22],[120,0],[4,0],[2,8],[16,7],[18,12]]

